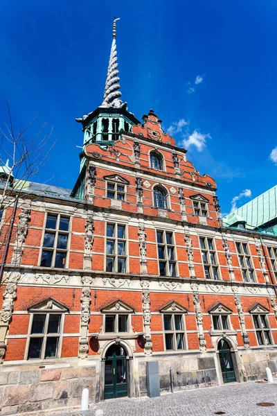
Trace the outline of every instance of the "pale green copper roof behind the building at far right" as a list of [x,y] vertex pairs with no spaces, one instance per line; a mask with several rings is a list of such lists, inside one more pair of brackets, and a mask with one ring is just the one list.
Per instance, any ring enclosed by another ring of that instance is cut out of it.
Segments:
[[277,185],[257,196],[231,214],[222,218],[225,225],[233,225],[234,217],[239,216],[249,227],[260,227],[277,218]]

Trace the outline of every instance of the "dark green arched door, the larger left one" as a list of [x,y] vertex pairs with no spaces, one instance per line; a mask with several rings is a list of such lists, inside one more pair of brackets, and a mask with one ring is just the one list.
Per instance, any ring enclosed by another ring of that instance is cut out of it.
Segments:
[[127,360],[122,345],[113,344],[107,349],[105,361],[105,399],[127,396]]

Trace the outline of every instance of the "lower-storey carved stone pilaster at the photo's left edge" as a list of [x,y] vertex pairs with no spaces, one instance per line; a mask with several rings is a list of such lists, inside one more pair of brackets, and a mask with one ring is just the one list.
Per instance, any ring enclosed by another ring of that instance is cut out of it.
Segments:
[[17,283],[20,279],[19,272],[10,272],[3,284],[6,284],[6,291],[3,293],[3,305],[0,315],[0,360],[3,363],[3,358],[6,354],[6,334],[12,318],[13,304],[17,297]]

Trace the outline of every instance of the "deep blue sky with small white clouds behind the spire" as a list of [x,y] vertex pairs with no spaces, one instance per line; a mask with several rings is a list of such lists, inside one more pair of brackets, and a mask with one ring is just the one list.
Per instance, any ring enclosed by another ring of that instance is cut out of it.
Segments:
[[215,178],[222,212],[276,184],[276,1],[11,0],[0,12],[0,125],[8,99],[15,128],[37,116],[28,134],[46,122],[57,139],[37,181],[72,188],[78,177],[75,117],[102,102],[116,16],[123,101],[176,132]]

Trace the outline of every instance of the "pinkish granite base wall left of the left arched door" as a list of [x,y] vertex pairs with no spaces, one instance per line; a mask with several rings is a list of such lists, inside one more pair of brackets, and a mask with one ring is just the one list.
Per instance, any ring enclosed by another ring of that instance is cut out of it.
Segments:
[[1,415],[80,406],[82,390],[96,401],[96,367],[55,367],[0,372]]

